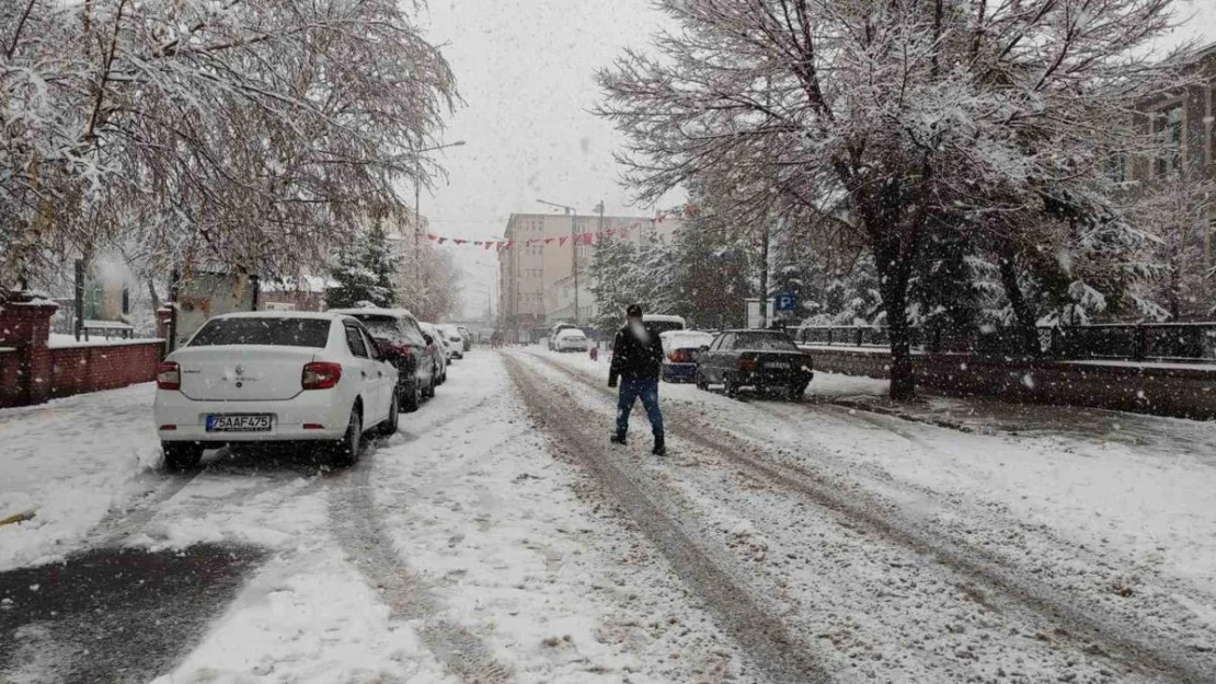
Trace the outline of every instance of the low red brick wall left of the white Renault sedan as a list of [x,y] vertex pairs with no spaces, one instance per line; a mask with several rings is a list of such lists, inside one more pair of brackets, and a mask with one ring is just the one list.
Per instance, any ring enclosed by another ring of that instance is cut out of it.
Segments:
[[50,347],[50,396],[61,397],[156,380],[161,340]]

